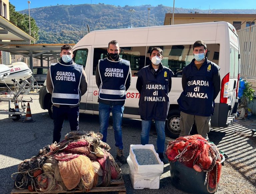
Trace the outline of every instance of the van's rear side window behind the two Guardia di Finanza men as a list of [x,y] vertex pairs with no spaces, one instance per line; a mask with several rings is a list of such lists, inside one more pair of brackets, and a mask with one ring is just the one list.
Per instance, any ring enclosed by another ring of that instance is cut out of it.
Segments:
[[[175,77],[182,77],[183,68],[191,63],[194,58],[193,45],[150,46],[147,47],[146,65],[150,64],[149,55],[152,47],[163,49],[163,59],[161,62],[173,71]],[[214,55],[211,53],[219,52],[220,45],[207,44],[207,50],[211,50],[206,55],[208,60],[218,64],[219,58],[214,58]]]

